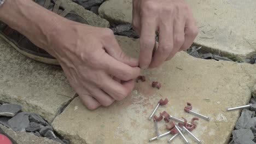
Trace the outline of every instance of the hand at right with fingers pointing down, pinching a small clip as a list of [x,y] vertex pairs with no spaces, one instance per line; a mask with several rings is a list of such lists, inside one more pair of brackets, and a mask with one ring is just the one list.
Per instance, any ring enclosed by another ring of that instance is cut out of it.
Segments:
[[[132,25],[140,35],[139,66],[155,68],[188,49],[198,29],[184,0],[133,0]],[[159,45],[153,53],[155,33]]]

